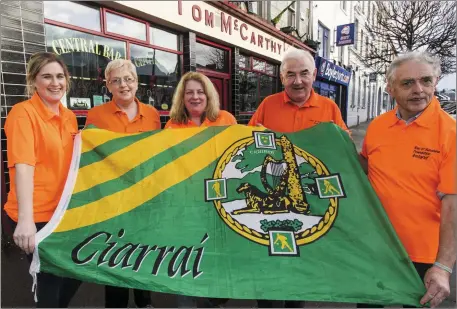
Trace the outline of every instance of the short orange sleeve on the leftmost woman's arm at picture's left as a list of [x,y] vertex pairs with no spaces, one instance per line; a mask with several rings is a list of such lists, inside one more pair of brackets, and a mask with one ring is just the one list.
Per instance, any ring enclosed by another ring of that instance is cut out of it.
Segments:
[[35,136],[32,119],[24,107],[14,106],[5,122],[8,167],[23,163],[36,164]]

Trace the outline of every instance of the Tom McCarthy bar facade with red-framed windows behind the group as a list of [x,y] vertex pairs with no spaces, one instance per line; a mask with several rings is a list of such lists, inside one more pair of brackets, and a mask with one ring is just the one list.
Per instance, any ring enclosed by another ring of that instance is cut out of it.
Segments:
[[[72,87],[62,103],[84,126],[90,108],[111,99],[104,81],[109,61],[137,67],[140,101],[168,120],[180,77],[210,78],[221,108],[247,123],[266,96],[281,91],[279,64],[290,46],[315,50],[280,28],[310,27],[310,1],[8,1],[1,2],[1,143],[6,170],[5,119],[25,96],[26,64],[35,52],[60,55]],[[4,175],[5,173],[2,173]],[[8,183],[8,177],[6,177]]]

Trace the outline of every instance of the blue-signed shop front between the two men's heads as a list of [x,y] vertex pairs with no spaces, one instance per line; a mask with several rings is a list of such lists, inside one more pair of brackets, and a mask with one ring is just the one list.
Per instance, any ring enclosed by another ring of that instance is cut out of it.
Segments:
[[316,56],[317,75],[313,83],[314,91],[332,99],[340,108],[344,122],[347,123],[348,88],[351,72],[333,62]]

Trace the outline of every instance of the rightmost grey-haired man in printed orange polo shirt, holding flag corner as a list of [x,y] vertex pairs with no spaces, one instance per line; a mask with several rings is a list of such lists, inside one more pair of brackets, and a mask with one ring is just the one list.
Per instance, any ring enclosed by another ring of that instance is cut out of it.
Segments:
[[[438,306],[450,294],[455,263],[456,122],[434,97],[439,59],[410,52],[387,71],[397,108],[368,126],[361,161],[426,294]],[[366,166],[365,166],[366,167]]]

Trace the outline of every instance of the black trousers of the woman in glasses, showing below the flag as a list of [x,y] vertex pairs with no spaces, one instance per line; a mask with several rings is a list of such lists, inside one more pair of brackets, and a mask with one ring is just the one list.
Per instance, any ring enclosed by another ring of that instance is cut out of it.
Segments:
[[[151,306],[151,295],[149,291],[133,290],[135,305],[138,308]],[[105,307],[106,308],[127,308],[129,303],[129,289],[118,286],[105,286]]]

